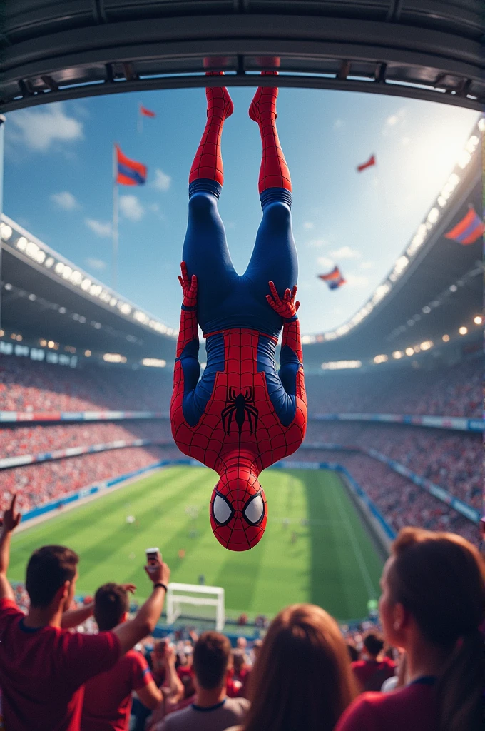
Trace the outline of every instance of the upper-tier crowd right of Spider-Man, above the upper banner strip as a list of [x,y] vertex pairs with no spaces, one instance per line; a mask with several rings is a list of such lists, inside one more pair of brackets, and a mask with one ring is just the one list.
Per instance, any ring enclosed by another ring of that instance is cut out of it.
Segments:
[[[397,387],[397,384],[399,387]],[[432,371],[375,366],[306,376],[313,414],[431,414],[481,418],[482,359]]]

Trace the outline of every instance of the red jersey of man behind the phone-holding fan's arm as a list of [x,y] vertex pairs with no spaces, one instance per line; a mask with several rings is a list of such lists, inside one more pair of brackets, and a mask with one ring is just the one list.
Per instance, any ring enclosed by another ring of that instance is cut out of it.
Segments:
[[130,650],[105,673],[91,678],[84,689],[81,731],[126,731],[131,712],[131,691],[153,680],[145,658]]

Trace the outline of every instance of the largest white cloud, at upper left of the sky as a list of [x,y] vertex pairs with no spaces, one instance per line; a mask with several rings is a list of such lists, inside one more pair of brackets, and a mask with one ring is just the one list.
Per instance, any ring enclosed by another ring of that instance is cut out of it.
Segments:
[[23,109],[9,115],[11,139],[36,152],[47,152],[56,141],[82,140],[83,122],[64,113],[63,105],[46,105],[42,110]]

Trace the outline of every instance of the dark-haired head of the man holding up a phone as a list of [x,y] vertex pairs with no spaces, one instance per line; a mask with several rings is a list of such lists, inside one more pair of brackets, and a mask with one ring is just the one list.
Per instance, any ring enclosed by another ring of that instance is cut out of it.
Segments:
[[27,564],[26,589],[32,609],[54,616],[69,609],[75,595],[79,556],[66,546],[42,546]]

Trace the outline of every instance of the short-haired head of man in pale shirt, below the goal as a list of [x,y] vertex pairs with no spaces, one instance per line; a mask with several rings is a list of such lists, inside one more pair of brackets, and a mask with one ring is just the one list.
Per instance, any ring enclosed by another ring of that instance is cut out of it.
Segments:
[[225,686],[231,659],[231,643],[227,637],[219,632],[203,632],[194,647],[197,689],[215,690]]

